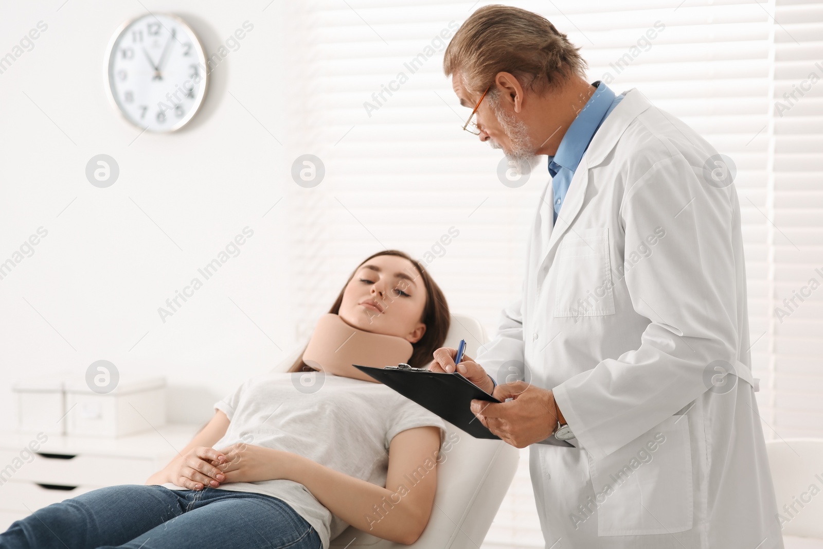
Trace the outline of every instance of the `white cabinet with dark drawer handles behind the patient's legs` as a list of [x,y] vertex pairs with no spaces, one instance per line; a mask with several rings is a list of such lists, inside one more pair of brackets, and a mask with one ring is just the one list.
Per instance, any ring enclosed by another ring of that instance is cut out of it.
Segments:
[[143,484],[200,427],[169,424],[108,439],[0,432],[0,532],[36,509],[95,488]]

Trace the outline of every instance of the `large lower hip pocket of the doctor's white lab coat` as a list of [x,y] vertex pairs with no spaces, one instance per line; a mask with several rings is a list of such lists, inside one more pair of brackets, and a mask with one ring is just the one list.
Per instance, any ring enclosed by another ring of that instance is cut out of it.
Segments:
[[671,416],[621,449],[593,460],[597,535],[689,530],[693,520],[688,416]]

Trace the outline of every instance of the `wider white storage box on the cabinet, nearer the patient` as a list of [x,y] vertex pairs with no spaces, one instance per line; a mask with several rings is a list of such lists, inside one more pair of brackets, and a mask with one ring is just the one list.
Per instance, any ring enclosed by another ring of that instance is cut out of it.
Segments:
[[66,434],[124,436],[165,426],[165,378],[119,380],[95,393],[85,380],[66,385]]

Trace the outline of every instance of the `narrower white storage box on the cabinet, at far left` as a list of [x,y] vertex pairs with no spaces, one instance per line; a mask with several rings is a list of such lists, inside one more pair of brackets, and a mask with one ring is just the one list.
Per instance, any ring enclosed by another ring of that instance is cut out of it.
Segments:
[[17,429],[46,435],[66,434],[66,406],[62,375],[18,379],[12,384],[17,396]]

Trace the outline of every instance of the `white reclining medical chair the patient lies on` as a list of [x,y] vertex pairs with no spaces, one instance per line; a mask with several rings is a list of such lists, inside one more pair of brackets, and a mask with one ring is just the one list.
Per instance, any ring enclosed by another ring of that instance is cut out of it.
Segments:
[[[476,319],[453,314],[445,347],[466,340],[466,354],[474,356],[487,341]],[[354,527],[332,540],[332,549],[477,549],[495,518],[518,467],[518,449],[502,440],[481,440],[448,421],[446,440],[453,440],[437,468],[437,493],[425,532],[411,546],[389,542]],[[445,448],[445,447],[444,447]]]

